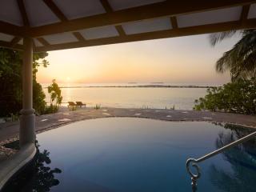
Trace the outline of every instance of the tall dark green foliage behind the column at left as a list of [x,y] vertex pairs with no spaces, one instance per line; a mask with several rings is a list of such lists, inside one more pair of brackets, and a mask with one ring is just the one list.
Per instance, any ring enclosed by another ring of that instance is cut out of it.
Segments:
[[[42,114],[46,102],[42,86],[36,82],[38,66],[47,66],[44,61],[39,63],[39,59],[45,58],[46,52],[33,55],[33,103],[37,114]],[[22,52],[18,50],[8,50],[0,48],[0,116],[10,116],[18,114],[22,109]]]

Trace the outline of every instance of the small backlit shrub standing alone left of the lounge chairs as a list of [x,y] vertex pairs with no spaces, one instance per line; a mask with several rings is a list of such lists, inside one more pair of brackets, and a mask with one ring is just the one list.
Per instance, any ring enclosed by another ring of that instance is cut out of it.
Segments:
[[48,86],[48,93],[50,94],[50,107],[47,108],[46,112],[57,112],[58,107],[62,104],[62,90],[59,88],[55,79],[52,82],[53,83]]

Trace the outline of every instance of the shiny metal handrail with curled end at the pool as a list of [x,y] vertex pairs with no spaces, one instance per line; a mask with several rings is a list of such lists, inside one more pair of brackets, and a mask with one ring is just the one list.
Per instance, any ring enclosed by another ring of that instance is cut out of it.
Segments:
[[[200,178],[201,176],[201,171],[200,171],[200,167],[198,166],[198,162],[203,162],[208,158],[213,157],[216,154],[220,154],[222,153],[224,150],[228,150],[233,146],[238,146],[238,144],[242,143],[242,142],[246,142],[248,140],[250,140],[251,138],[254,138],[254,136],[256,136],[256,131],[246,135],[243,138],[239,138],[237,141],[235,142],[231,142],[230,144],[226,145],[226,146],[222,146],[221,148],[219,148],[218,150],[214,150],[213,152],[211,152],[210,154],[206,154],[204,156],[202,156],[201,158],[188,158],[186,160],[186,170],[188,172],[188,174],[190,174],[191,176],[191,185],[192,185],[192,190],[196,191],[197,190],[197,179]],[[192,171],[190,170],[190,165],[193,166],[195,168],[195,170],[197,171],[196,174],[193,174]]]

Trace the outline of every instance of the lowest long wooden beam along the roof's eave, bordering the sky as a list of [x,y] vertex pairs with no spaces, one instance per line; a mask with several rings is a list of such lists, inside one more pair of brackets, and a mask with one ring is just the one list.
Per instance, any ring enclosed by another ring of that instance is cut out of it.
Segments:
[[[255,28],[256,19],[247,20],[245,25],[248,28]],[[46,50],[63,50],[63,49],[77,48],[77,47],[83,47],[83,46],[100,46],[100,45],[107,45],[107,44],[113,44],[113,43],[136,42],[136,41],[158,39],[158,38],[173,38],[173,37],[187,36],[187,35],[193,35],[193,34],[208,34],[208,33],[220,32],[220,31],[241,30],[241,29],[244,29],[244,27],[241,26],[240,21],[223,22],[223,23],[209,24],[204,26],[190,26],[190,27],[178,28],[176,30],[162,30],[162,31],[147,32],[143,34],[130,34],[123,37],[118,36],[118,37],[111,37],[111,38],[91,39],[91,40],[87,40],[86,42],[69,42],[69,43],[63,43],[58,45],[37,47],[35,51],[40,52],[40,51],[46,51]]]

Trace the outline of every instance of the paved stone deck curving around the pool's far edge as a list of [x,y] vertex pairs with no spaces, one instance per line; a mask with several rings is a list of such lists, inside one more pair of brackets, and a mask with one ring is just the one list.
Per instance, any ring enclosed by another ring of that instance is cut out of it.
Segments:
[[[124,108],[78,108],[69,110],[62,107],[58,113],[44,114],[36,117],[36,132],[54,129],[71,122],[91,118],[133,117],[153,118],[164,121],[200,121],[200,122],[229,122],[236,125],[256,128],[256,116],[230,114],[194,110],[158,110],[158,109],[124,109]],[[8,158],[15,151],[2,146],[6,142],[18,139],[19,122],[0,123],[0,161]]]

